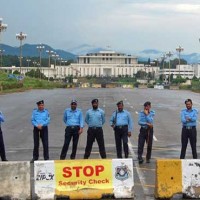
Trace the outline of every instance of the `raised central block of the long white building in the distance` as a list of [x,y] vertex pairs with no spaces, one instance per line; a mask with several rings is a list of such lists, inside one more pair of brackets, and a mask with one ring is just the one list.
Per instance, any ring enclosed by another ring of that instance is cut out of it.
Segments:
[[138,64],[135,56],[106,50],[79,56],[77,63],[71,64],[72,69],[79,70],[79,76],[118,77],[131,76],[137,73]]

